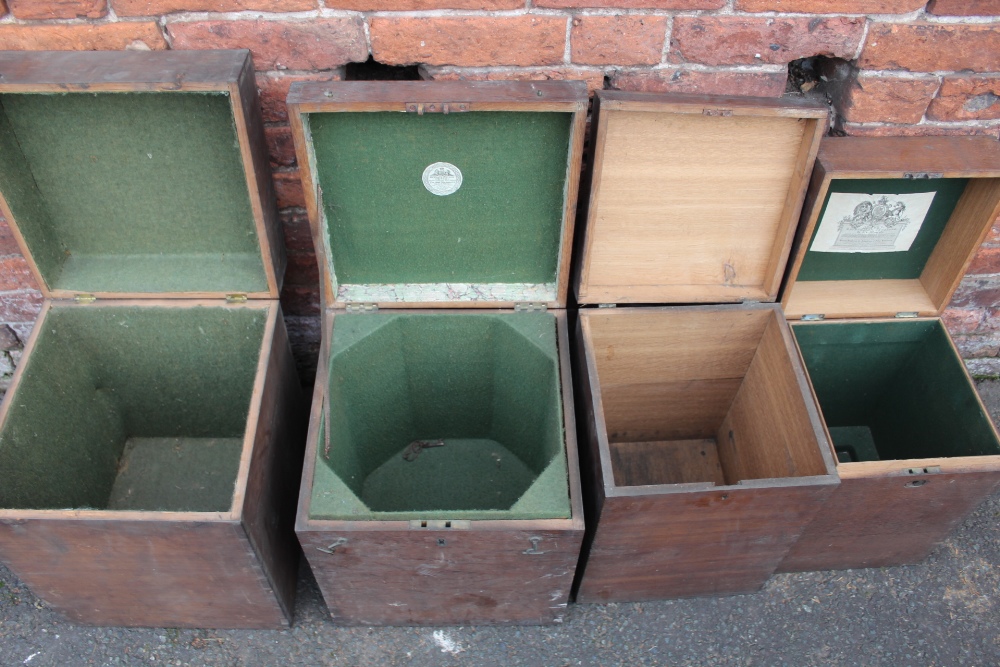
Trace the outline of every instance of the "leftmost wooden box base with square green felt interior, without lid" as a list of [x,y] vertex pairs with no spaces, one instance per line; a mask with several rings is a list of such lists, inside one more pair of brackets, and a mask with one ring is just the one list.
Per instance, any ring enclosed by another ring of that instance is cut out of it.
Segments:
[[0,409],[0,558],[74,621],[289,624],[301,390],[277,302],[222,304],[46,302]]

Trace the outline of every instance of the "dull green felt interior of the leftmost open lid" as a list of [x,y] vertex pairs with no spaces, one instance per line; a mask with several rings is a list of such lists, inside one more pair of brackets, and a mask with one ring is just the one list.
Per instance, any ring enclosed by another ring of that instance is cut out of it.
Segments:
[[0,183],[50,290],[268,290],[225,92],[0,95]]

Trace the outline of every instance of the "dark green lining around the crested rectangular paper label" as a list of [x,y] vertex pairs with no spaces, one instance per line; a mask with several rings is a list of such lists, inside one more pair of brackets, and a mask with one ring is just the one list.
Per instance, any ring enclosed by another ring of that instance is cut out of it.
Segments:
[[[905,280],[919,278],[934,251],[955,205],[965,191],[967,178],[933,178],[927,180],[904,180],[888,178],[840,178],[830,183],[830,190],[823,202],[819,220],[826,213],[830,195],[835,192],[857,192],[875,194],[910,194],[936,192],[934,201],[917,238],[905,252],[842,253],[807,251],[799,268],[796,280]],[[819,232],[816,225],[813,239]]]

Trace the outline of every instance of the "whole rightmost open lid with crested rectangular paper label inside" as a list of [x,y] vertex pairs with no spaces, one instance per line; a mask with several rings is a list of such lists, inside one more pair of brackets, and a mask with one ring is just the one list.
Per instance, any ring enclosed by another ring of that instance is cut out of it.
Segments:
[[998,215],[995,139],[828,139],[782,294],[785,314],[938,315]]

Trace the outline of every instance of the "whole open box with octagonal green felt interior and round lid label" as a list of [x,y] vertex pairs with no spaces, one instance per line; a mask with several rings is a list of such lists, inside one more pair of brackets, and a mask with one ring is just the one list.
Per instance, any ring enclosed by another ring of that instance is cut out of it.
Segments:
[[288,107],[326,306],[296,532],[334,621],[559,621],[585,88],[295,84]]

